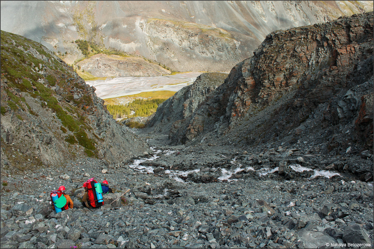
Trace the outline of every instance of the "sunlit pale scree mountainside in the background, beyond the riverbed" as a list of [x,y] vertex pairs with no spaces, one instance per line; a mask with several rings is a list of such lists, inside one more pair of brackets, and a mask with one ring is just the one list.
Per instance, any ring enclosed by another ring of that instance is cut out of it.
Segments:
[[83,57],[76,39],[176,71],[229,71],[278,29],[372,11],[372,1],[1,1],[1,29]]

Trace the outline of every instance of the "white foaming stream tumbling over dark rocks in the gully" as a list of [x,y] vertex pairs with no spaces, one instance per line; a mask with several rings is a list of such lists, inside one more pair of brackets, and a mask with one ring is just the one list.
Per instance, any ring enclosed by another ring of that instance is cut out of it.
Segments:
[[[148,172],[150,174],[153,174],[154,173],[153,172],[154,168],[152,166],[143,166],[143,165],[140,165],[140,164],[142,162],[145,162],[145,161],[152,161],[156,158],[159,158],[160,156],[157,156],[157,154],[159,154],[159,153],[165,153],[165,155],[172,155],[173,153],[177,152],[176,150],[165,150],[165,151],[156,150],[154,147],[151,147],[150,149],[154,151],[153,156],[151,156],[150,158],[135,159],[134,162],[131,165],[129,165],[129,167],[134,169],[134,170],[137,170],[137,171]],[[232,177],[233,174],[237,174],[238,172],[241,172],[241,171],[246,171],[246,172],[256,171],[259,176],[264,176],[264,175],[267,175],[267,174],[273,174],[273,173],[275,173],[279,170],[279,167],[276,167],[276,168],[273,168],[273,169],[270,169],[268,167],[264,167],[264,168],[261,168],[261,169],[258,169],[258,170],[255,170],[251,166],[241,168],[242,164],[237,164],[236,158],[234,158],[231,161],[231,164],[236,165],[237,168],[235,168],[234,170],[227,170],[225,168],[218,168],[218,169],[217,168],[212,168],[213,171],[217,171],[217,170],[221,171],[222,175],[221,175],[221,177],[217,178],[218,180],[220,180],[220,181],[225,181],[226,180],[228,182],[237,181],[238,179],[230,179],[230,178]],[[310,168],[302,167],[299,164],[296,164],[296,165],[291,164],[291,165],[289,165],[289,167],[296,172],[313,171],[314,174],[309,179],[313,179],[313,178],[318,177],[318,176],[323,176],[323,177],[326,177],[326,178],[331,178],[334,175],[341,176],[337,172],[310,169]],[[181,183],[186,183],[186,182],[183,179],[181,179],[180,177],[187,177],[188,174],[191,174],[193,172],[200,172],[200,169],[193,169],[193,170],[188,170],[188,171],[180,171],[180,170],[173,170],[173,169],[165,170],[165,174],[169,174],[170,178],[174,179],[175,181],[179,181]]]

